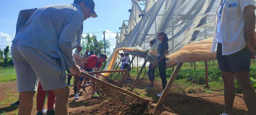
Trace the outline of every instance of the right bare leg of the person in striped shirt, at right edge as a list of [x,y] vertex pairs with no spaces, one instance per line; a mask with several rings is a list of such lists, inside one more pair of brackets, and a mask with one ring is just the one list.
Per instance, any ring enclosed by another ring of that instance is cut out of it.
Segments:
[[244,94],[244,102],[248,108],[249,115],[256,114],[256,93],[252,87],[248,71],[234,73],[238,84],[241,86]]

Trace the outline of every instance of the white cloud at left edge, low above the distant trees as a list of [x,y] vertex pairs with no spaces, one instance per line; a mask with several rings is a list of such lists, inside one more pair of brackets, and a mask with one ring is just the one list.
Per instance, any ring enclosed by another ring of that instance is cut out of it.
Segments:
[[15,34],[6,34],[3,32],[0,32],[0,49],[4,50],[4,48],[9,45],[11,48],[12,40],[14,39]]

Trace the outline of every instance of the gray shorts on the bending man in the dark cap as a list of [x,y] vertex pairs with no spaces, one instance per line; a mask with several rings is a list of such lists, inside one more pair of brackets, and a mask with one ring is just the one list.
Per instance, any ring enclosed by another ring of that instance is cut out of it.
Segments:
[[45,91],[67,86],[66,80],[62,80],[59,58],[15,43],[12,43],[11,53],[17,74],[18,92],[36,91],[38,79]]

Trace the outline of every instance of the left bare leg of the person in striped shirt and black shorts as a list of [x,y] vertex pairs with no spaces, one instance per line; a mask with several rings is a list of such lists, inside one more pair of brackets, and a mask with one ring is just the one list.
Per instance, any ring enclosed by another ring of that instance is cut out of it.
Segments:
[[233,103],[236,96],[235,78],[232,72],[221,71],[221,76],[224,83],[224,112],[228,115],[232,115]]

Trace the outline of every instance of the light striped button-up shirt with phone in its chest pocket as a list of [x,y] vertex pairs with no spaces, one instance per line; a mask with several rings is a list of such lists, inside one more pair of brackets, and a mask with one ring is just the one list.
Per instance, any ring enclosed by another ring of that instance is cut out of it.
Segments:
[[243,13],[245,6],[248,5],[256,7],[254,0],[226,0],[221,16],[218,17],[221,9],[221,5],[219,5],[215,14],[212,52],[216,51],[217,48],[216,34],[218,24],[216,22],[219,19],[220,34],[218,40],[222,39],[222,55],[230,55],[246,47]]

